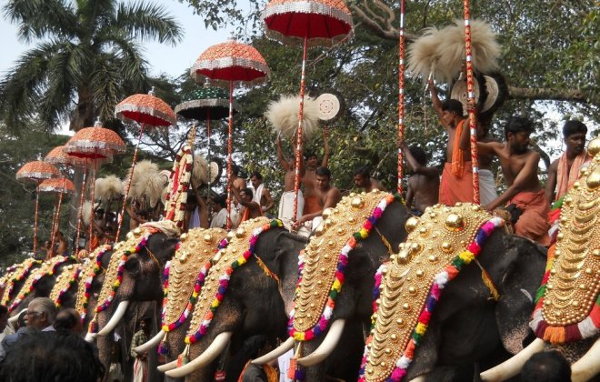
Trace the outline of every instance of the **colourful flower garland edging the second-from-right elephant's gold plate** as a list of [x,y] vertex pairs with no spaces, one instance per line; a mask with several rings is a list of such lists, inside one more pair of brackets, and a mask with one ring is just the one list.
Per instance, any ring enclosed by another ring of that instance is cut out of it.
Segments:
[[[425,306],[423,310],[419,314],[418,323],[416,324],[415,329],[413,330],[413,334],[408,341],[408,344],[405,348],[405,351],[396,361],[395,369],[392,372],[391,376],[386,379],[386,381],[397,382],[400,381],[406,375],[406,371],[410,366],[413,358],[415,357],[415,348],[421,343],[423,336],[425,336],[425,332],[429,325],[429,321],[431,319],[432,312],[434,311],[435,304],[439,301],[439,298],[442,294],[442,289],[445,288],[446,284],[457,276],[463,267],[467,266],[475,259],[476,256],[481,252],[481,247],[484,245],[485,240],[492,235],[495,228],[499,226],[504,226],[505,222],[500,217],[493,217],[483,226],[481,226],[477,233],[475,234],[475,239],[473,242],[467,246],[463,252],[455,256],[452,259],[451,263],[445,266],[445,269],[440,273],[435,275],[434,284],[431,286],[429,291],[429,296],[425,299]],[[383,270],[383,268],[380,268]],[[375,278],[375,283],[377,279]],[[379,276],[379,285],[381,285],[381,274]],[[376,306],[376,304],[375,304]],[[375,308],[374,315],[377,313],[377,308]],[[365,366],[367,362],[367,356],[369,353],[368,346],[373,339],[373,335],[369,336],[366,340],[365,345],[365,353],[363,354],[363,361],[361,363],[361,368],[359,371],[359,382],[365,382]]]

